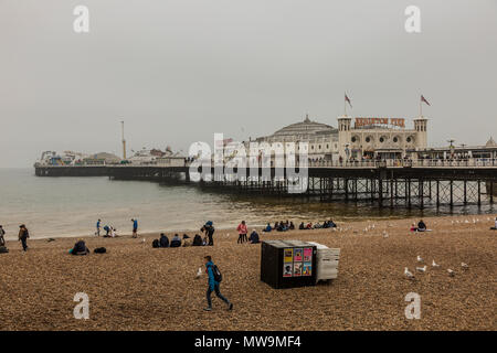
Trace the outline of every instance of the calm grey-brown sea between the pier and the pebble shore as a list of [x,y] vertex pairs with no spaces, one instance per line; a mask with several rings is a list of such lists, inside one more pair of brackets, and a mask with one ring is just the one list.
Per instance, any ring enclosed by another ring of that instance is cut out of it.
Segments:
[[[474,206],[456,213],[480,213]],[[115,181],[108,178],[38,178],[34,169],[0,169],[0,224],[14,238],[24,223],[32,237],[92,235],[97,218],[130,234],[133,217],[140,232],[198,231],[205,221],[218,228],[248,227],[281,220],[372,220],[417,217],[451,213],[442,210],[379,210],[368,203],[322,203],[316,200],[248,197],[210,193],[188,185]]]

